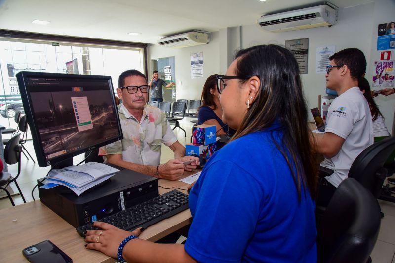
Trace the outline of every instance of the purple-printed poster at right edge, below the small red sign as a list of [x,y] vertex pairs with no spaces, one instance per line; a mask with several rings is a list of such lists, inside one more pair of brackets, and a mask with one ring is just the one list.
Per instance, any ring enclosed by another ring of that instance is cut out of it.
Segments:
[[394,87],[394,60],[375,61],[373,87]]

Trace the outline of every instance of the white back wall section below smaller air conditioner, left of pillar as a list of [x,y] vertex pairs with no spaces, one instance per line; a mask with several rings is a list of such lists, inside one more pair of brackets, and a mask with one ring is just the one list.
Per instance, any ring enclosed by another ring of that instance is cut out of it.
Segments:
[[[200,99],[203,85],[207,77],[218,73],[219,69],[219,32],[211,34],[211,41],[206,45],[191,46],[185,48],[168,48],[158,44],[150,45],[147,49],[148,77],[152,73],[152,59],[172,57],[175,58],[176,72],[176,97],[177,99]],[[191,78],[192,53],[203,52],[203,78]]]

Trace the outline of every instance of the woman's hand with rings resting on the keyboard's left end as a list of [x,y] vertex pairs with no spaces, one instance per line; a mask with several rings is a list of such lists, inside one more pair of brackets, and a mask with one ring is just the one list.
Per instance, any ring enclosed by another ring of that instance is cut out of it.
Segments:
[[[86,231],[85,241],[88,243],[85,245],[86,248],[100,251],[114,259],[117,259],[118,247],[123,239],[130,235],[139,236],[142,229],[138,228],[129,232],[99,221],[93,222],[93,225],[102,230]],[[133,240],[129,242],[133,242]]]

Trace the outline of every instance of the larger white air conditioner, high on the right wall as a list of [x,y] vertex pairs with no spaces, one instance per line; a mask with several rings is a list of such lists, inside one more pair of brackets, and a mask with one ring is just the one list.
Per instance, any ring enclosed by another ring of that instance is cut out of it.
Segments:
[[283,32],[332,26],[337,22],[336,7],[323,4],[278,14],[263,15],[257,23],[265,30]]

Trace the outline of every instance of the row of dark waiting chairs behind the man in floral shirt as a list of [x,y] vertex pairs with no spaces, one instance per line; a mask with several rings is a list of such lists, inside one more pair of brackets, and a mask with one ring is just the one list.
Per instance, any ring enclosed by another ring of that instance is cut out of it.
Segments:
[[[150,101],[149,104],[156,106],[158,102]],[[200,100],[190,100],[188,112],[187,112],[188,100],[184,100],[184,99],[177,100],[176,102],[173,103],[168,101],[162,101],[159,102],[157,107],[166,114],[169,123],[175,125],[173,130],[175,128],[179,128],[184,132],[185,137],[187,137],[186,131],[180,126],[180,120],[184,119],[185,116],[195,116],[200,107],[200,104],[201,104]]]

